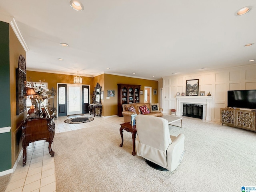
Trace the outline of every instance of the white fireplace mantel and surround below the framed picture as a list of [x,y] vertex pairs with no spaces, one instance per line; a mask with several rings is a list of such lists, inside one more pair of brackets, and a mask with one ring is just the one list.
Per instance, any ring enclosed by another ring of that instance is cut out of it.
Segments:
[[212,96],[176,96],[176,115],[182,116],[184,103],[202,105],[203,120],[212,120]]

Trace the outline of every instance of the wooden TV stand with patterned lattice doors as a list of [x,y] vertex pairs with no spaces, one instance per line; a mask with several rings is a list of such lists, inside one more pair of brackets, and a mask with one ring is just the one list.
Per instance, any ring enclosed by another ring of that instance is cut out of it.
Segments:
[[256,131],[256,111],[221,108],[220,116],[222,125]]

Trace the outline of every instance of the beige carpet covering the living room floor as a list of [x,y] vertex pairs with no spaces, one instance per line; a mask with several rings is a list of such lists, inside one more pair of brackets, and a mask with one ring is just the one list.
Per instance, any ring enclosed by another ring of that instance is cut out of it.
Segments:
[[182,164],[154,170],[132,156],[132,135],[119,124],[92,126],[54,137],[57,192],[235,192],[256,186],[256,133],[184,118]]

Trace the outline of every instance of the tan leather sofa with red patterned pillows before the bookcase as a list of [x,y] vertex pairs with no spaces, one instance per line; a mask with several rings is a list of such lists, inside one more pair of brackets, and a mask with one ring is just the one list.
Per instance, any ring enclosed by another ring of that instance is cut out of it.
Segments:
[[[155,117],[162,117],[163,115],[163,109],[159,108],[158,103],[130,103],[130,104],[123,104],[123,116],[124,116],[124,122],[131,122],[131,116],[132,114],[144,114],[149,116],[155,116]],[[131,107],[134,107],[132,110]],[[149,112],[143,111],[142,106],[146,106],[148,108]],[[142,110],[140,110],[142,108]]]

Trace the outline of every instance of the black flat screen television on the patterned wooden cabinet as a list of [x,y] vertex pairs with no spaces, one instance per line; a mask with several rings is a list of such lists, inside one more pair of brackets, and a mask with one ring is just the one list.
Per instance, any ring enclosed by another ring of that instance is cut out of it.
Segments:
[[256,109],[256,90],[228,91],[228,107]]

